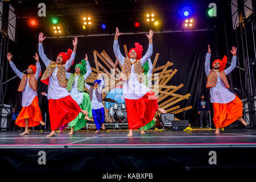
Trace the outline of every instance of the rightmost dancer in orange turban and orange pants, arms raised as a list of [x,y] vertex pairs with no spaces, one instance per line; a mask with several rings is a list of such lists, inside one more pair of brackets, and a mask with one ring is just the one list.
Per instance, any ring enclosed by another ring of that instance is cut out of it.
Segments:
[[[214,117],[213,122],[216,127],[216,134],[220,134],[220,130],[236,121],[237,119],[242,122],[243,125],[247,123],[242,118],[243,108],[242,101],[236,96],[236,94],[228,90],[229,83],[226,78],[230,72],[236,68],[237,63],[237,48],[232,47],[230,52],[233,55],[231,65],[225,69],[228,58],[223,57],[222,60],[216,59],[213,61],[210,69],[210,46],[208,45],[208,53],[205,57],[205,73],[207,75],[207,88],[210,89],[210,102],[213,104]],[[225,69],[225,70],[224,70]]]

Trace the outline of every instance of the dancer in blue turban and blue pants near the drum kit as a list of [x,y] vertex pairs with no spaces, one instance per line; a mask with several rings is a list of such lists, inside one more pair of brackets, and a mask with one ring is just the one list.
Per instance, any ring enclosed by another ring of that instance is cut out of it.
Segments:
[[105,86],[105,81],[101,73],[98,75],[98,78],[100,78],[100,80],[95,80],[93,82],[93,86],[90,86],[85,82],[85,87],[89,90],[89,96],[92,103],[93,120],[97,128],[95,133],[100,131],[101,126],[102,130],[105,130],[105,109],[102,104],[102,89]]

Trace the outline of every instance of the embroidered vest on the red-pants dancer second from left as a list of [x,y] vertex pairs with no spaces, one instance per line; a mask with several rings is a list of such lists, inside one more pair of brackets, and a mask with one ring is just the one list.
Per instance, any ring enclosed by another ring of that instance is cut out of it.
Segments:
[[[41,81],[48,85],[49,84],[49,76],[52,75],[53,71],[54,71],[54,65],[55,65],[55,61],[51,61],[48,65],[48,67],[46,68],[46,71],[44,71],[44,74],[41,78]],[[62,87],[66,87],[67,86],[67,79],[66,79],[66,75],[65,75],[65,64],[62,64],[59,66],[58,70],[57,70],[57,78],[58,78],[58,82],[59,85]]]

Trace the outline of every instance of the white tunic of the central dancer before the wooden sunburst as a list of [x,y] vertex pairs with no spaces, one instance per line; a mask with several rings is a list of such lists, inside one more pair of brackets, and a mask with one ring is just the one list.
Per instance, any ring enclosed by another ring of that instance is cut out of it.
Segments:
[[[143,66],[145,62],[150,58],[152,55],[152,48],[153,45],[149,44],[147,53],[144,55],[141,59],[141,65]],[[123,65],[125,61],[125,57],[120,52],[118,40],[114,40],[114,53],[121,65]],[[130,59],[131,63],[133,63],[135,60]],[[131,99],[131,100],[138,100],[142,98],[147,92],[149,92],[150,89],[147,88],[146,85],[143,83],[140,83],[138,81],[138,78],[136,76],[136,73],[134,71],[134,64],[131,65],[131,75],[129,80],[125,81],[123,80],[123,98]]]

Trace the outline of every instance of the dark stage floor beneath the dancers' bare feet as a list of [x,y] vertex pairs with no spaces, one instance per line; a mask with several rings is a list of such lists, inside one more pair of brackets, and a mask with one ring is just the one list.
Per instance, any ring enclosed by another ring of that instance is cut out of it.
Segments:
[[134,131],[78,131],[74,135],[57,132],[55,137],[46,138],[50,131],[30,131],[19,135],[18,131],[0,132],[0,148],[190,148],[190,147],[256,147],[255,129],[226,129],[220,135],[214,130],[196,131],[146,131],[141,135]]

